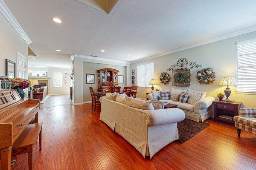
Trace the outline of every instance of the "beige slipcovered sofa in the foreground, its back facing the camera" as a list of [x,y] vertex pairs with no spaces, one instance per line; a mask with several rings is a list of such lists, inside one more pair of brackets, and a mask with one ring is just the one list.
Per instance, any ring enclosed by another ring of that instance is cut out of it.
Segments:
[[185,119],[185,113],[179,108],[143,110],[106,97],[101,97],[100,102],[100,120],[132,144],[144,157],[151,158],[179,138],[177,122]]

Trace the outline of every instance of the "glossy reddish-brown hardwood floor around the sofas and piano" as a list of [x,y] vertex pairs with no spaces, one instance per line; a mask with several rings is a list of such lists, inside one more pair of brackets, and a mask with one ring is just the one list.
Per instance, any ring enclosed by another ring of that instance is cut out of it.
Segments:
[[[181,144],[172,142],[146,158],[99,120],[100,108],[65,105],[41,108],[42,150],[35,170],[253,170],[256,136],[207,120],[210,126]],[[38,144],[34,150],[38,150]],[[27,170],[27,157],[17,157],[12,170]]]

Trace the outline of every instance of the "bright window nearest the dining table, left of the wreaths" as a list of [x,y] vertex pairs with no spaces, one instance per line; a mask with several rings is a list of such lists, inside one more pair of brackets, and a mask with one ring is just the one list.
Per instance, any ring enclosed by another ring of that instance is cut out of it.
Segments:
[[148,85],[151,79],[154,79],[154,63],[137,65],[137,85],[151,87],[151,85]]

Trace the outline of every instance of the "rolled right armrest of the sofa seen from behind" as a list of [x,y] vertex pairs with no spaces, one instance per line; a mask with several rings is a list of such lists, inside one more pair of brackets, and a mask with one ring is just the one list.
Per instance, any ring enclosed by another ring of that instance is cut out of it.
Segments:
[[165,125],[169,123],[181,122],[185,119],[185,113],[178,108],[146,110],[147,126]]

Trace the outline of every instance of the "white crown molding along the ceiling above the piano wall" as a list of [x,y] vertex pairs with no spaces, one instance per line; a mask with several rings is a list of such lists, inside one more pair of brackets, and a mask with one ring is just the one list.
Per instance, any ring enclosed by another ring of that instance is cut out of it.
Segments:
[[0,0],[0,12],[3,14],[3,16],[8,20],[8,22],[12,25],[12,27],[17,31],[18,34],[23,38],[23,40],[29,45],[32,43],[32,41],[27,36],[26,32],[23,30],[23,28],[20,26],[18,21],[13,16],[12,12],[9,10],[9,8],[6,6],[6,4],[3,2],[3,0]]

